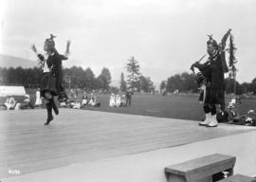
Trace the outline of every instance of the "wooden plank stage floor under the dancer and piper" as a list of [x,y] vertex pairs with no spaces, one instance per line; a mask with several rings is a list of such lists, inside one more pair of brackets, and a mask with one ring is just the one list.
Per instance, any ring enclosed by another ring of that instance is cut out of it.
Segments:
[[0,178],[174,147],[254,127],[62,109],[48,126],[46,111],[0,112]]

